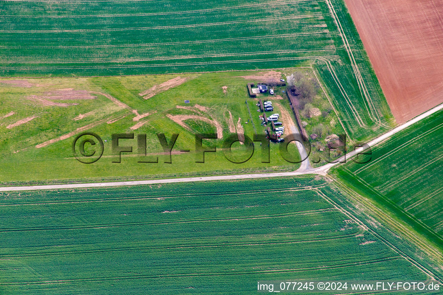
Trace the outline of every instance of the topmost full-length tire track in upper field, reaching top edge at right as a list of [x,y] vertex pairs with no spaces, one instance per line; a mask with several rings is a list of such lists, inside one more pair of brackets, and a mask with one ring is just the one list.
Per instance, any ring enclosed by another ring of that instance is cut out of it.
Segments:
[[[64,1],[62,0],[62,1],[57,1],[57,2],[64,2]],[[66,1],[66,2],[69,2],[69,1]],[[109,14],[109,15],[0,15],[0,17],[84,18],[84,17],[120,17],[120,16],[174,15],[174,14],[189,14],[189,13],[201,13],[201,12],[210,12],[210,11],[225,11],[225,10],[233,10],[233,9],[244,9],[244,8],[274,6],[274,5],[284,5],[284,4],[296,4],[296,3],[310,3],[310,2],[323,2],[324,3],[324,0],[280,1],[280,2],[248,4],[248,5],[239,5],[239,6],[231,6],[231,7],[221,7],[221,8],[185,10],[185,11],[171,11],[171,12],[134,13],[134,14]]]

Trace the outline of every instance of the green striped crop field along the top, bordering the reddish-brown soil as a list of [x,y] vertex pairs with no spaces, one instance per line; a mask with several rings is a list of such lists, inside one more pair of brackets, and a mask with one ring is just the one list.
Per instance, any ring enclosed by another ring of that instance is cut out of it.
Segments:
[[82,7],[48,3],[4,1],[0,70],[5,75],[127,75],[307,65],[315,67],[327,86],[348,136],[363,140],[392,127],[389,107],[341,0],[237,5],[121,1]]

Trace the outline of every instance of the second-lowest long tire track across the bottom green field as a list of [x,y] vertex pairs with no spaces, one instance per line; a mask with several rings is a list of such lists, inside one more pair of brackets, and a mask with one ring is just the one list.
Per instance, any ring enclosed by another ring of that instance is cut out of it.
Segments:
[[120,252],[120,251],[148,251],[148,250],[167,250],[174,251],[175,249],[192,249],[192,248],[225,248],[225,247],[249,247],[249,246],[264,246],[264,245],[282,245],[295,243],[310,243],[333,241],[339,239],[346,239],[355,237],[356,233],[343,234],[337,236],[326,236],[319,238],[300,238],[291,240],[275,240],[275,241],[250,241],[250,242],[229,242],[229,243],[205,243],[205,244],[187,244],[187,245],[164,245],[164,246],[144,246],[144,247],[121,247],[121,248],[107,248],[107,249],[91,249],[91,250],[73,250],[63,252],[35,252],[35,253],[19,253],[19,254],[4,254],[0,258],[23,258],[23,257],[40,257],[40,256],[55,256],[55,255],[76,255],[76,254],[91,254],[91,253],[105,253],[105,252]]

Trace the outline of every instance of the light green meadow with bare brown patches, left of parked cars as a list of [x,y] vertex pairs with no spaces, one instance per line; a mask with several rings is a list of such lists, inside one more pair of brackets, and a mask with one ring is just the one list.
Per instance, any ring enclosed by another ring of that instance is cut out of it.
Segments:
[[[181,79],[187,79],[185,83],[147,100],[139,93],[175,79],[177,75],[24,80],[28,83],[25,86],[29,87],[0,80],[0,169],[8,172],[0,173],[0,181],[112,181],[137,177],[293,171],[299,164],[285,161],[280,155],[280,146],[272,142],[270,163],[262,163],[266,154],[262,152],[260,142],[254,143],[253,157],[243,164],[234,164],[225,158],[222,143],[229,133],[246,134],[251,139],[255,134],[264,134],[264,126],[260,125],[256,111],[258,99],[249,99],[246,88],[247,82],[256,83],[256,80],[241,77],[257,73],[260,72],[181,75]],[[19,80],[19,83],[22,82]],[[226,93],[222,86],[227,86]],[[84,95],[89,99],[79,99]],[[262,95],[262,98],[266,97],[271,99],[269,95]],[[185,100],[190,100],[190,103],[184,103]],[[280,107],[289,110],[288,100],[276,101]],[[272,113],[279,110],[276,105]],[[290,114],[289,111],[287,113]],[[182,125],[177,116],[182,119]],[[13,126],[26,118],[34,119]],[[205,163],[196,163],[195,134],[217,133],[214,121],[220,126],[221,134],[217,140],[203,140],[203,145],[217,147],[218,151],[206,153]],[[93,164],[80,163],[73,157],[71,145],[74,136],[82,130],[92,131],[106,140],[103,156]],[[119,145],[133,146],[133,153],[122,153],[121,163],[113,163],[116,158],[111,150],[111,134],[125,132],[134,133],[134,139],[121,139]],[[172,134],[179,134],[171,164],[164,163],[169,156],[162,155],[163,149],[156,133],[164,133],[168,141]],[[147,134],[146,153],[149,159],[137,156],[140,155],[138,134]],[[186,149],[190,152],[180,153]],[[232,149],[236,151],[237,161],[247,159],[245,146],[237,142]],[[294,160],[299,160],[295,145],[290,144],[288,151]],[[152,161],[157,156],[159,163],[138,162]]]

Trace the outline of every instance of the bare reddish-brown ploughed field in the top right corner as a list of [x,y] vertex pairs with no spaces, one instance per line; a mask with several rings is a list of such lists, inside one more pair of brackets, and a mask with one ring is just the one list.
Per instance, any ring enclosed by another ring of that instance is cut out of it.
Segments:
[[345,2],[397,123],[443,103],[443,2]]

